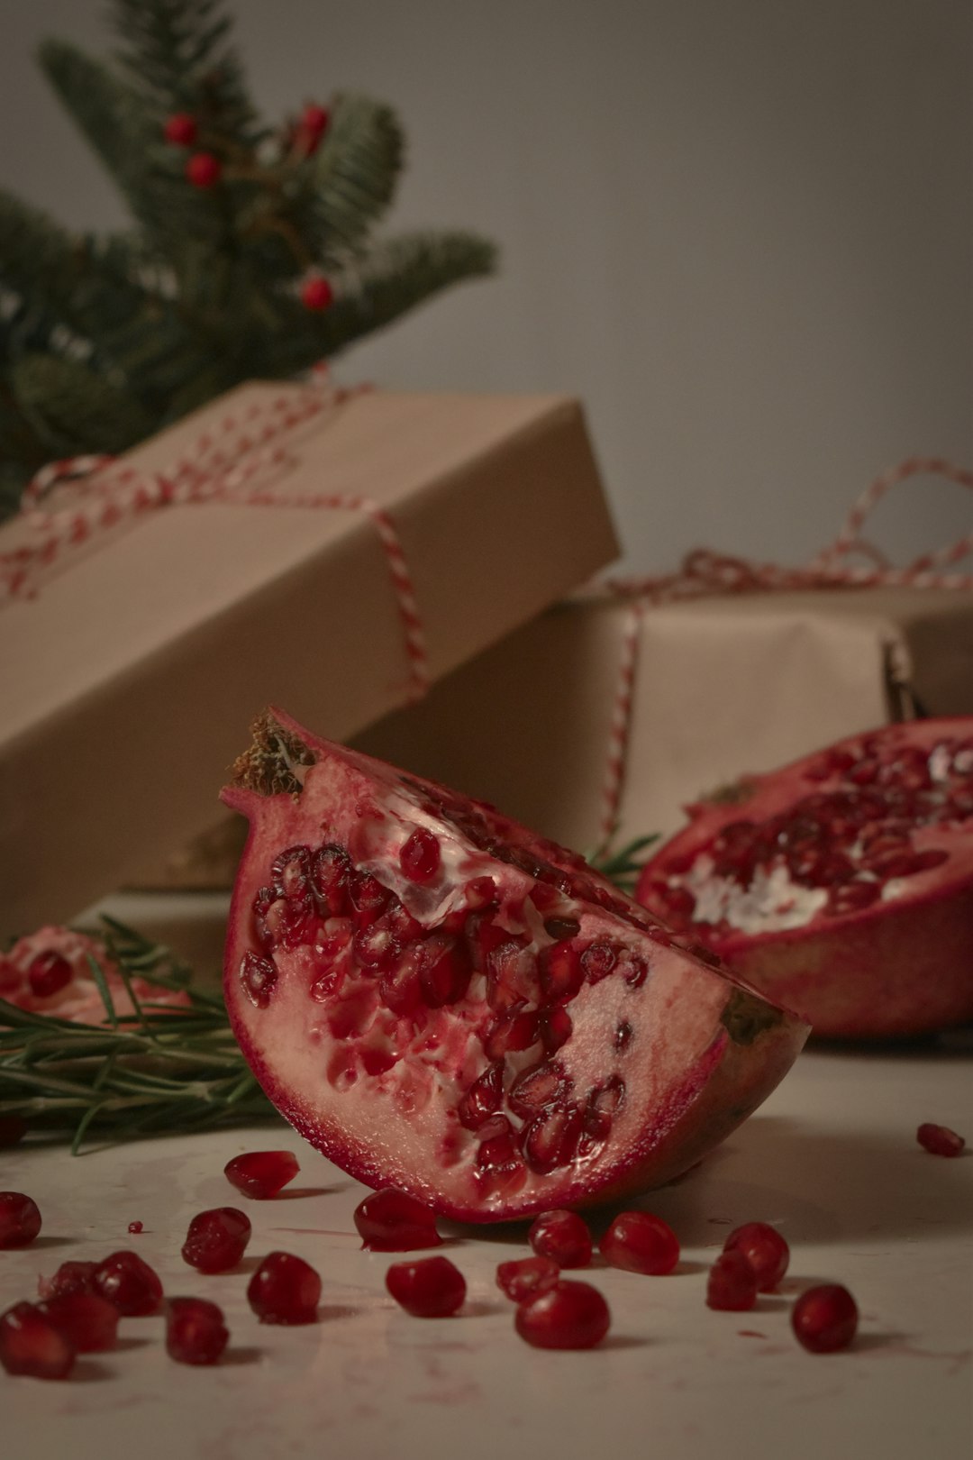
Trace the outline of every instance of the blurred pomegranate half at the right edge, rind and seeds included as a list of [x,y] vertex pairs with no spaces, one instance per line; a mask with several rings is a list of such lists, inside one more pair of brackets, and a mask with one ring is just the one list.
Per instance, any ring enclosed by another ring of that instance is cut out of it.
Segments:
[[815,1034],[973,1018],[973,717],[852,736],[690,812],[639,901]]

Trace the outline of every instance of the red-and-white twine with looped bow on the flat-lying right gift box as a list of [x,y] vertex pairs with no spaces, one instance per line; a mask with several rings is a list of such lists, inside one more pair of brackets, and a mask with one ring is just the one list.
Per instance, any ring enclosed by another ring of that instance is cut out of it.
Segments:
[[[942,457],[909,457],[875,477],[852,507],[848,521],[830,548],[807,568],[780,568],[754,564],[696,548],[683,559],[678,572],[655,578],[614,578],[604,587],[627,603],[621,631],[616,692],[608,730],[608,755],[601,791],[598,837],[602,844],[616,834],[624,796],[632,712],[637,675],[642,619],[648,607],[686,599],[718,597],[725,593],[785,593],[799,588],[960,588],[973,590],[973,574],[942,572],[950,564],[973,552],[973,533],[937,552],[923,553],[906,568],[888,566],[883,555],[861,537],[861,530],[883,496],[910,476],[942,476],[958,486],[973,488],[973,472]],[[849,565],[850,556],[871,558],[872,566]]]

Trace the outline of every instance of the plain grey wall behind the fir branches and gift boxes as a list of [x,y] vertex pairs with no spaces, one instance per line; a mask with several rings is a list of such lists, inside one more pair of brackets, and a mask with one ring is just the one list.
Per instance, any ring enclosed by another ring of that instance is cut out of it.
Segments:
[[[346,381],[579,394],[633,569],[697,545],[804,562],[913,453],[973,464],[970,0],[233,0],[270,114],[400,111],[391,222],[497,239],[349,352]],[[0,185],[123,220],[32,61],[98,0],[0,0]],[[897,558],[973,524],[923,483]],[[512,524],[515,530],[515,524]]]

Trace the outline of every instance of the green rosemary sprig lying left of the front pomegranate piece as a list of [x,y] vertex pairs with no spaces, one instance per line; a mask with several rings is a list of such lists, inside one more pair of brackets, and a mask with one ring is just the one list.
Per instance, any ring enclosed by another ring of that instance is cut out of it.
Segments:
[[[92,977],[106,1023],[35,1013],[0,999],[0,1117],[70,1140],[127,1140],[276,1117],[251,1075],[219,994],[193,986],[190,967],[115,918],[102,942],[134,1013],[118,1013],[104,968]],[[133,978],[185,994],[185,1004],[139,999]]]

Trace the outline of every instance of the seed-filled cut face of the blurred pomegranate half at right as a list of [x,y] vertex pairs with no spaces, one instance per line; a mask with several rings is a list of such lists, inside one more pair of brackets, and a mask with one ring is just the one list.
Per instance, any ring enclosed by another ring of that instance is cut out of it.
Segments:
[[783,929],[856,912],[896,896],[902,879],[942,866],[948,845],[926,845],[926,834],[973,818],[973,740],[944,737],[923,749],[864,736],[808,761],[802,774],[808,791],[786,810],[724,823],[690,866],[652,880],[674,927]]

